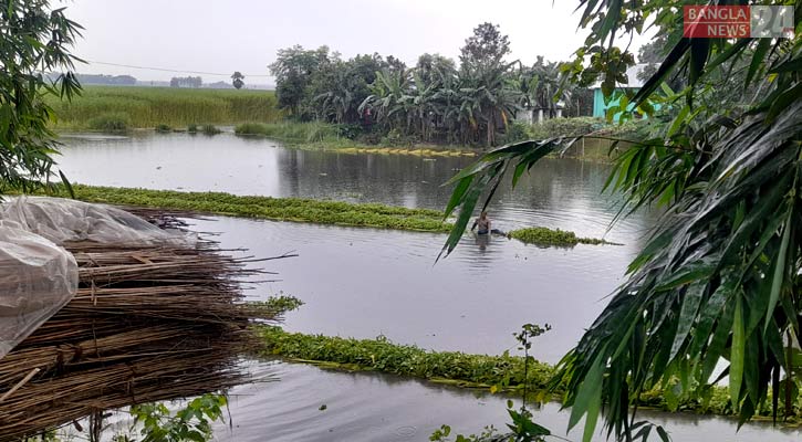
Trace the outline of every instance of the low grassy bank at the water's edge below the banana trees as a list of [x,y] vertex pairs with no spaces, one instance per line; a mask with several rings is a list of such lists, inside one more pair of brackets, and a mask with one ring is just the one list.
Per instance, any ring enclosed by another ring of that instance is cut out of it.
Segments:
[[[424,157],[468,156],[475,157],[477,149],[456,145],[428,145],[397,143],[379,139],[367,143],[355,136],[347,126],[326,123],[243,123],[235,127],[242,136],[261,136],[277,139],[302,149],[337,149],[344,154],[416,155]],[[386,138],[386,137],[385,137]]]

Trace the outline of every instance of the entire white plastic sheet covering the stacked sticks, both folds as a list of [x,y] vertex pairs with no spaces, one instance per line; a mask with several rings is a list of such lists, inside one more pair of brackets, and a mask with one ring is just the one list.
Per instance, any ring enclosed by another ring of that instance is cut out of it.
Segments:
[[189,245],[196,238],[104,204],[6,198],[0,203],[0,359],[77,293],[75,259],[61,248],[70,241]]

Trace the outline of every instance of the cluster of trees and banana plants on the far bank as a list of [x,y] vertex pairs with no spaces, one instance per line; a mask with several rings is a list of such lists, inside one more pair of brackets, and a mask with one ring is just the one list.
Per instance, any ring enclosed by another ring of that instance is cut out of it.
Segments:
[[[279,50],[269,67],[279,106],[300,122],[347,126],[350,134],[393,135],[425,143],[497,145],[515,116],[590,115],[590,90],[560,87],[560,64],[506,60],[510,42],[482,23],[460,50],[459,65],[423,54],[409,67],[379,54],[343,60],[327,46]],[[563,85],[564,86],[564,85]]]

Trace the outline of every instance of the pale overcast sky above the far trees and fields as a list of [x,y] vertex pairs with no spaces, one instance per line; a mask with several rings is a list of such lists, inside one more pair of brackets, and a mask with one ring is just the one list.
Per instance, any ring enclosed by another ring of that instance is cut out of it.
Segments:
[[308,49],[325,44],[344,57],[392,54],[409,65],[425,52],[457,60],[465,39],[485,21],[500,24],[510,36],[510,60],[531,64],[537,55],[567,60],[586,34],[577,31],[573,0],[67,0],[65,4],[67,17],[85,28],[75,54],[95,62],[76,70],[138,80],[169,80],[190,71],[226,74],[199,74],[212,83],[241,71],[247,83],[271,84],[267,65],[275,60],[277,50],[293,44]]

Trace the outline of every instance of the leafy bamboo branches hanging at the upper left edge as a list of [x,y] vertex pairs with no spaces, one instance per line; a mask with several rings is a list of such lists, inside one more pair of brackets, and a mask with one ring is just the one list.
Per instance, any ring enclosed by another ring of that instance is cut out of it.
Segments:
[[[51,176],[59,144],[42,95],[80,92],[69,49],[81,29],[46,0],[0,0],[0,192],[32,190]],[[59,70],[66,72],[52,81],[42,74]]]

